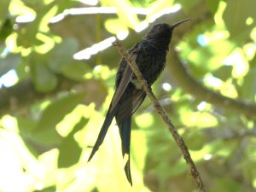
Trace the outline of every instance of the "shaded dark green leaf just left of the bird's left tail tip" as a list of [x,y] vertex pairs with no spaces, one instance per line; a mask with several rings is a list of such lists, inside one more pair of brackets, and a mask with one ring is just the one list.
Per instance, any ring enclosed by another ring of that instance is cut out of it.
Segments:
[[59,150],[59,158],[58,158],[58,167],[64,168],[68,166],[73,166],[73,164],[79,161],[80,155],[82,153],[82,148],[79,147],[79,143],[74,140],[74,134],[77,131],[80,131],[84,128],[84,125],[88,123],[88,119],[84,119],[82,117],[77,125],[73,127],[73,131],[71,131],[66,138],[64,138],[61,143]]

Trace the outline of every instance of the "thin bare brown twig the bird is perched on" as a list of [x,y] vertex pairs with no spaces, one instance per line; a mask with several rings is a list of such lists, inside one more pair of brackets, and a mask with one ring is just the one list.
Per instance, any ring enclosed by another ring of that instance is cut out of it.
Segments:
[[178,147],[181,148],[182,150],[183,158],[186,160],[187,164],[189,165],[191,175],[194,177],[195,183],[198,189],[200,189],[203,192],[207,192],[207,189],[205,188],[204,183],[201,180],[200,174],[196,169],[195,163],[191,159],[191,156],[189,154],[189,149],[183,141],[183,137],[181,137],[177,133],[177,130],[175,129],[174,125],[172,125],[172,122],[168,118],[165,109],[160,106],[160,103],[157,101],[156,97],[154,96],[147,81],[143,79],[143,75],[139,71],[136,62],[131,59],[131,55],[128,54],[128,52],[124,49],[123,45],[119,41],[113,42],[113,46],[119,50],[120,55],[122,55],[125,58],[125,60],[128,62],[128,64],[131,66],[133,73],[135,73],[137,79],[143,85],[143,90],[147,93],[151,102],[153,102],[154,108],[156,109],[157,113],[160,114],[161,118],[166,123],[168,130],[171,131],[172,137],[174,137]]

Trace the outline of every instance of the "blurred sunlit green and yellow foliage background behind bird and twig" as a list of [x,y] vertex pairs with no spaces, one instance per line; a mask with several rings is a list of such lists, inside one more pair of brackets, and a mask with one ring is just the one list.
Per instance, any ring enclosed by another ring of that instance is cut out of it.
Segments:
[[157,22],[173,34],[153,85],[208,191],[256,190],[256,2],[0,2],[0,191],[195,191],[180,150],[146,99],[132,121],[125,179],[117,126],[90,163],[120,55]]

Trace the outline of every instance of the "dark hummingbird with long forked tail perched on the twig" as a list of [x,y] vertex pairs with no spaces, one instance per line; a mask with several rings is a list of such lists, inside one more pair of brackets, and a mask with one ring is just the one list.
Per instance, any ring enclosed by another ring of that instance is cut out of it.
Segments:
[[[133,58],[137,67],[143,74],[143,78],[151,85],[160,76],[166,66],[166,54],[171,43],[173,29],[182,24],[181,20],[174,25],[166,23],[154,25],[146,34],[142,41],[129,49],[129,54]],[[131,115],[142,104],[146,96],[143,87],[138,82],[136,76],[124,58],[119,63],[119,69],[115,80],[115,92],[108,108],[106,119],[102,125],[96,143],[92,148],[89,160],[101,146],[108,131],[109,125],[115,117],[119,127],[119,134],[122,143],[122,154],[128,154],[125,164],[125,175],[132,185],[130,169],[130,138],[131,138]]]

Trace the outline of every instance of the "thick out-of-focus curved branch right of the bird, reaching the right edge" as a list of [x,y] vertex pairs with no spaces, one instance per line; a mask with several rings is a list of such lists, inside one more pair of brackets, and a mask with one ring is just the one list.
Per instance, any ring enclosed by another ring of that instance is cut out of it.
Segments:
[[212,103],[212,105],[218,108],[224,108],[230,112],[242,113],[249,119],[256,119],[255,103],[223,96],[217,92],[213,92],[203,84],[200,84],[189,74],[183,62],[177,58],[177,53],[169,53],[167,61],[170,63],[168,66],[172,78],[183,90],[189,92],[189,94],[195,96],[195,98]]

